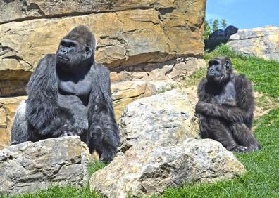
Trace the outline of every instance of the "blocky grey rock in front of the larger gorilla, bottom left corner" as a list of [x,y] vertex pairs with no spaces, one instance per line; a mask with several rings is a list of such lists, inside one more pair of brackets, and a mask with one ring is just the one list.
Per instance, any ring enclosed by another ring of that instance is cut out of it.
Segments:
[[88,179],[89,159],[87,146],[77,136],[6,147],[0,151],[0,194],[81,186]]

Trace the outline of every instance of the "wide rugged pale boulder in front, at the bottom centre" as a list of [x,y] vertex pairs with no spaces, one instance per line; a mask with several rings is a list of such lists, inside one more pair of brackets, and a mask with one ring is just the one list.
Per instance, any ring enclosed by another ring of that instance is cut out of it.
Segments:
[[135,146],[92,175],[90,189],[107,197],[160,194],[184,183],[216,182],[245,172],[232,152],[214,140],[180,146]]

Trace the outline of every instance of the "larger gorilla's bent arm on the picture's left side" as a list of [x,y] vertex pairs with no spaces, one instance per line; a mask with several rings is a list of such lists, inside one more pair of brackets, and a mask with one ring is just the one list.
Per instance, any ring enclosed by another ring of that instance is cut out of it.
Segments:
[[56,55],[46,55],[39,61],[27,84],[27,94],[26,119],[32,131],[41,136],[59,136],[57,129],[70,120],[70,112],[57,104]]

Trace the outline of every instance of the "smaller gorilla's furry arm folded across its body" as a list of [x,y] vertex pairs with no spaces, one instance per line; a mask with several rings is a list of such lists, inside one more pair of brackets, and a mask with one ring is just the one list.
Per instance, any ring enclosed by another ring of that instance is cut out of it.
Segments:
[[[202,83],[200,85],[204,86]],[[204,87],[200,87],[199,89],[203,91]],[[249,119],[249,117],[252,116],[251,112],[253,112],[254,109],[252,86],[244,75],[240,75],[239,77],[235,77],[235,89],[237,92],[236,107],[206,103],[204,102],[206,95],[204,96],[204,93],[201,93],[199,98],[202,100],[199,100],[199,103],[197,103],[196,112],[205,114],[209,117],[220,117],[233,122],[243,122]]]

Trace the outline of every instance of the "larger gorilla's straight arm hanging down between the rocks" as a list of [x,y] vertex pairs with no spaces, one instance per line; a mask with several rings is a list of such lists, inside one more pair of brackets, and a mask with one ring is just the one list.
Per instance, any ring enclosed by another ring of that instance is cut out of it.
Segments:
[[88,110],[90,150],[97,150],[101,161],[111,161],[120,138],[113,112],[109,70],[103,65],[93,65],[90,72],[93,81]]

